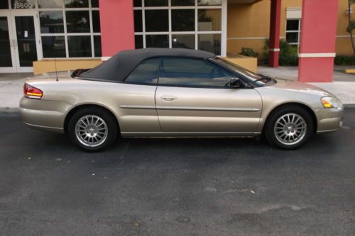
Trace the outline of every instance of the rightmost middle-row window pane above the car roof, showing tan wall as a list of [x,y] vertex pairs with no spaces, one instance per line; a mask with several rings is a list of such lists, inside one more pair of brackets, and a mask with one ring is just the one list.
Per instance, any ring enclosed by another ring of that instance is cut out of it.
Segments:
[[222,30],[221,9],[199,9],[198,30],[199,31],[221,31]]

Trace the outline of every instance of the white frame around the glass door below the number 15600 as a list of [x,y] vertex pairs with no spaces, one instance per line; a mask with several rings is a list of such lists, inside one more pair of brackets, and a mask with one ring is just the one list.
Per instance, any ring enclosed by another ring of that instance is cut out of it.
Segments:
[[14,47],[14,57],[16,60],[16,72],[33,72],[33,67],[20,67],[20,58],[18,55],[18,43],[17,43],[17,34],[16,34],[16,16],[33,16],[33,24],[35,28],[35,45],[36,45],[36,52],[37,52],[37,60],[42,58],[42,45],[40,43],[40,23],[38,18],[38,12],[35,10],[14,10],[11,11],[11,23],[12,23],[12,36],[13,36],[13,47]]

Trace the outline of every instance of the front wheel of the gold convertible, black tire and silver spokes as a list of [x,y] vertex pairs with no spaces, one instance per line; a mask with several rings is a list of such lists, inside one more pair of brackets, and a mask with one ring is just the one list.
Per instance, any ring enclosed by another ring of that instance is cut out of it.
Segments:
[[[290,115],[295,114],[295,115],[289,117],[287,116],[288,114]],[[284,119],[282,119],[283,116],[285,116]],[[291,118],[293,117],[295,118],[301,117],[303,120],[300,119],[298,123],[302,123],[302,121],[304,121],[305,126],[302,125],[302,128],[297,128],[297,126],[291,125],[291,127],[289,128],[289,125],[292,123],[287,122],[287,120],[289,119],[290,121]],[[277,128],[275,128],[275,124],[278,121],[280,121],[280,123],[278,123]],[[280,128],[282,127],[281,123],[285,123],[285,126],[283,126],[284,129]],[[298,130],[304,130],[304,132],[302,133],[302,131],[300,131],[300,133],[298,133],[299,132]],[[273,147],[278,147],[280,149],[285,149],[285,150],[293,150],[298,147],[301,147],[302,145],[305,144],[305,142],[307,142],[310,136],[312,136],[313,132],[314,132],[314,125],[313,125],[312,116],[308,111],[306,111],[304,108],[300,106],[285,106],[273,111],[269,115],[268,119],[266,120],[266,124],[264,128],[264,135],[268,143]],[[280,135],[278,135],[278,133],[280,133]],[[294,142],[289,141],[289,143],[285,143],[288,142],[287,140],[288,138],[286,138],[286,136],[291,136],[291,135],[295,137]],[[296,137],[296,135],[299,135],[299,137]]]

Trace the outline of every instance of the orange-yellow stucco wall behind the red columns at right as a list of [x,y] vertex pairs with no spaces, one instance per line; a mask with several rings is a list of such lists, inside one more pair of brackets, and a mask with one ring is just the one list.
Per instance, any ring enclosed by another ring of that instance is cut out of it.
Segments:
[[[280,37],[285,38],[286,9],[301,7],[302,0],[281,1]],[[255,4],[228,4],[227,10],[227,47],[228,53],[239,53],[241,47],[251,47],[263,55],[263,46],[269,35],[270,0],[258,1]],[[337,55],[351,55],[351,43],[347,27],[347,0],[339,0],[337,23]],[[352,18],[355,20],[355,4],[352,7]],[[325,16],[324,16],[325,17]],[[240,39],[247,38],[247,39]]]

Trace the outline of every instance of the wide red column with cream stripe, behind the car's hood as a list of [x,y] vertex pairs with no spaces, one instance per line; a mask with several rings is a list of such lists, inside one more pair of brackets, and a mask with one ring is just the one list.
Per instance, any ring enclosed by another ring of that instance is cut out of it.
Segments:
[[332,82],[338,0],[303,0],[298,81]]

